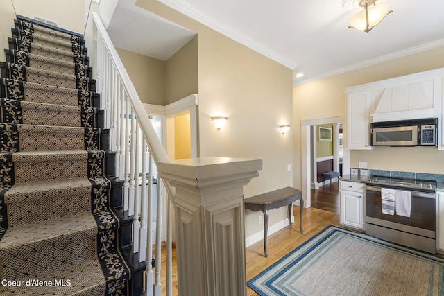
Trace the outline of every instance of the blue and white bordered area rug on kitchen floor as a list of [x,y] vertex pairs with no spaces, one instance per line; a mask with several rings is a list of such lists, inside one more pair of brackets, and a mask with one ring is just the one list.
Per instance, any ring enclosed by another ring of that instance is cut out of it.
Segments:
[[259,295],[444,295],[444,259],[329,226],[247,284]]

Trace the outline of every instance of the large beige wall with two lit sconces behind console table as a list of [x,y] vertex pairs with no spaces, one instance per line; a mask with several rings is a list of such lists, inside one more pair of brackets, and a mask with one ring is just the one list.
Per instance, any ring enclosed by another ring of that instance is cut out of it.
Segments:
[[[263,160],[259,177],[244,187],[252,196],[293,186],[292,71],[230,38],[181,15],[155,0],[138,6],[198,34],[200,156]],[[217,130],[211,116],[228,116]],[[282,135],[278,126],[290,124]],[[262,231],[259,213],[246,213],[246,236]],[[285,209],[273,210],[270,225],[284,220]]]

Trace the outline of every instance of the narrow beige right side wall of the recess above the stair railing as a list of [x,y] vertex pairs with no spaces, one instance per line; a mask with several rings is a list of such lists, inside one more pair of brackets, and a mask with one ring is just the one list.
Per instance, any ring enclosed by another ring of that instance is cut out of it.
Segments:
[[165,63],[165,105],[198,93],[197,42],[194,37]]

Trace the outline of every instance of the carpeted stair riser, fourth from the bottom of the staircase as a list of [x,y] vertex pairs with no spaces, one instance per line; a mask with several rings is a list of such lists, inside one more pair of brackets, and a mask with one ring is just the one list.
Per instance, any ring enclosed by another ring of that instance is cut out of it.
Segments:
[[101,149],[102,128],[0,123],[0,151]]

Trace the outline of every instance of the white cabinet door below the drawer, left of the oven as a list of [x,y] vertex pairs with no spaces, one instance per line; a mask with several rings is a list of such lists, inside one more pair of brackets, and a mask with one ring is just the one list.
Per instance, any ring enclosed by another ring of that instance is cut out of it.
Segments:
[[364,230],[364,193],[341,191],[341,224]]

